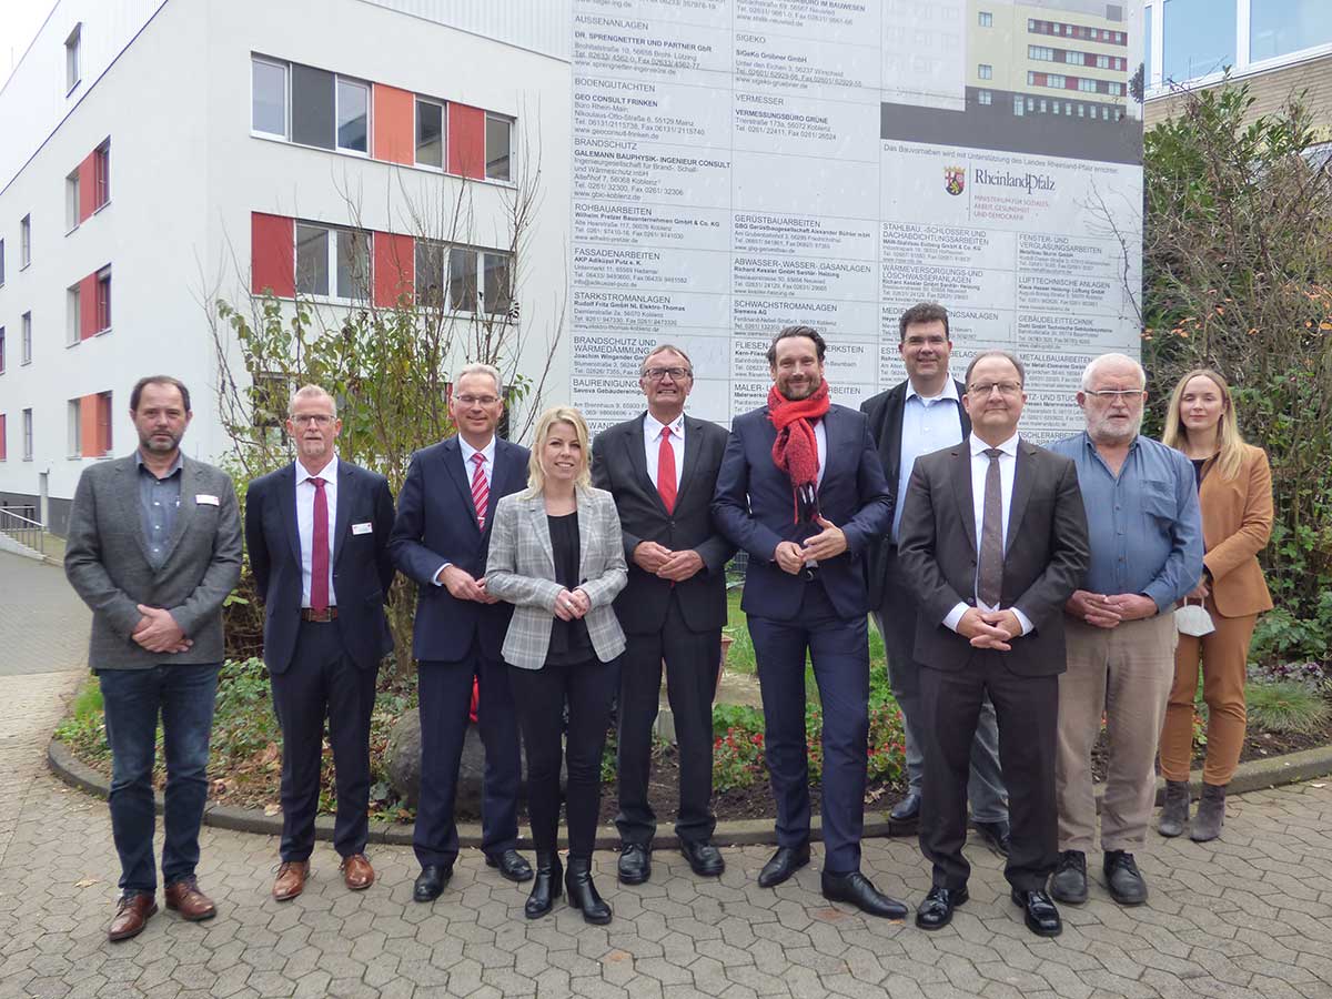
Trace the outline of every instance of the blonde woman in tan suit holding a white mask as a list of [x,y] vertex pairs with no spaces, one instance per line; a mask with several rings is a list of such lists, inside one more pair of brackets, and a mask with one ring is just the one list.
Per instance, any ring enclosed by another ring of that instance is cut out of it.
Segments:
[[[1166,413],[1162,441],[1183,452],[1197,472],[1203,509],[1203,578],[1189,594],[1201,599],[1215,631],[1180,634],[1175,686],[1162,729],[1160,762],[1166,803],[1158,830],[1177,836],[1215,839],[1225,817],[1225,786],[1244,745],[1244,667],[1257,615],[1272,597],[1257,553],[1272,533],[1272,470],[1261,448],[1244,444],[1225,378],[1197,369],[1179,380]],[[1188,766],[1193,746],[1193,695],[1203,667],[1207,701],[1207,763],[1203,798],[1188,821]]]

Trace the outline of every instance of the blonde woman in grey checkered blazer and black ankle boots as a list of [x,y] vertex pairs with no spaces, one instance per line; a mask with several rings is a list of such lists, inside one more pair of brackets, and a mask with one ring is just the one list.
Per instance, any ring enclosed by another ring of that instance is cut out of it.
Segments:
[[[610,906],[591,883],[601,809],[601,754],[619,686],[625,633],[611,602],[629,578],[619,517],[610,493],[593,489],[587,424],[555,406],[537,421],[529,488],[496,506],[486,591],[514,605],[503,658],[527,747],[527,811],[537,876],[523,911],[535,919],[559,896],[555,854],[559,763],[569,791],[569,903],[589,923],[609,923]],[[562,750],[569,705],[567,750]]]

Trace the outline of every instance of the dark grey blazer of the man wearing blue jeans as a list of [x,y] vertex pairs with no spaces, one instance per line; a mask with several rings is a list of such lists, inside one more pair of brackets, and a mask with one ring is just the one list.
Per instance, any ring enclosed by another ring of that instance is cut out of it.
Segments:
[[[69,511],[65,575],[92,609],[88,665],[140,670],[222,661],[222,601],[241,574],[241,521],[230,477],[201,461],[181,464],[180,510],[161,569],[148,561],[135,456],[84,469]],[[194,643],[174,655],[131,638],[137,605],[165,607]]]

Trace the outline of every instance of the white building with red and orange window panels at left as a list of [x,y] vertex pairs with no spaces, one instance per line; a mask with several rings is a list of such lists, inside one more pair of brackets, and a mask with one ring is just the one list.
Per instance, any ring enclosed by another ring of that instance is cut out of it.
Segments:
[[[61,0],[0,91],[0,502],[63,533],[87,462],[136,446],[143,374],[190,386],[189,454],[225,453],[216,298],[437,296],[545,353],[570,71],[567,5],[541,7]],[[518,192],[543,205],[521,258]]]

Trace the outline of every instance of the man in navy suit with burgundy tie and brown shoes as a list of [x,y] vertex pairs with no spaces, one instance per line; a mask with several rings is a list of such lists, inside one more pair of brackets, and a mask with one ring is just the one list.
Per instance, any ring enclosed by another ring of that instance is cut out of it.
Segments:
[[393,649],[393,494],[384,476],[338,460],[333,397],[306,385],[286,432],[297,458],[245,494],[245,545],[264,601],[264,665],[282,726],[282,842],[273,896],[305,888],[320,803],[324,718],[337,777],[333,847],[342,879],[368,888],[370,713],[380,661]]

